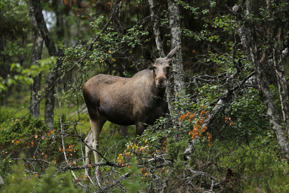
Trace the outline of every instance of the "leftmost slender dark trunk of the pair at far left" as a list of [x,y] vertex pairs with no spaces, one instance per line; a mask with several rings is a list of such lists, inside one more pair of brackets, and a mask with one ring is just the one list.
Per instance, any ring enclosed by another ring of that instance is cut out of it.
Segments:
[[[41,59],[42,54],[42,47],[43,47],[43,38],[41,36],[41,32],[38,28],[36,18],[35,18],[35,12],[33,9],[33,6],[31,3],[29,3],[29,16],[30,16],[30,22],[33,27],[34,31],[34,45],[32,48],[32,56],[31,56],[31,65],[36,65],[38,63],[38,60]],[[38,91],[40,90],[40,82],[41,82],[41,72],[36,75],[35,78],[33,78],[34,83],[31,85],[31,100],[30,100],[30,113],[34,118],[38,118],[40,114],[39,106],[39,96]]]

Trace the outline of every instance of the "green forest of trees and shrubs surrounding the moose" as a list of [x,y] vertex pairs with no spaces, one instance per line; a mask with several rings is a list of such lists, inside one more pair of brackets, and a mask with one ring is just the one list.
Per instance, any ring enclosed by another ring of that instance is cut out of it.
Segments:
[[[288,192],[288,3],[0,0],[0,192]],[[177,45],[170,113],[86,165],[84,83]]]

